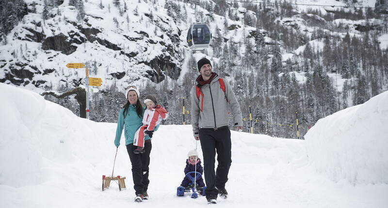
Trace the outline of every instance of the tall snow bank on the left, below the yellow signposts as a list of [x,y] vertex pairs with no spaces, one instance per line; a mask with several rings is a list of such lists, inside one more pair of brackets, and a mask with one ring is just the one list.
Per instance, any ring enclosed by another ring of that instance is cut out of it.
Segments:
[[[0,157],[8,159],[0,163],[0,184],[18,188],[61,175],[68,178],[71,174],[61,169],[63,163],[94,164],[104,159],[97,146],[107,145],[113,136],[106,135],[106,127],[98,128],[103,124],[81,119],[39,94],[3,83],[0,100]],[[93,140],[96,134],[99,139]],[[82,168],[76,168],[75,178]]]

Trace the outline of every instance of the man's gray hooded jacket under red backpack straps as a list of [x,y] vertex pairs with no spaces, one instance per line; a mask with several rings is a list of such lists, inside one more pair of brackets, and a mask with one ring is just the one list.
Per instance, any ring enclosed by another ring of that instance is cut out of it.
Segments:
[[[229,83],[224,79],[225,93],[220,88],[218,81],[220,77],[216,75],[210,84],[200,87],[202,95],[197,97],[195,86],[191,89],[191,123],[194,136],[198,135],[199,128],[220,128],[229,125],[228,105],[234,115],[234,126],[242,126],[242,114],[240,104],[234,96]],[[210,92],[211,90],[211,92]],[[201,111],[203,99],[203,107]]]

